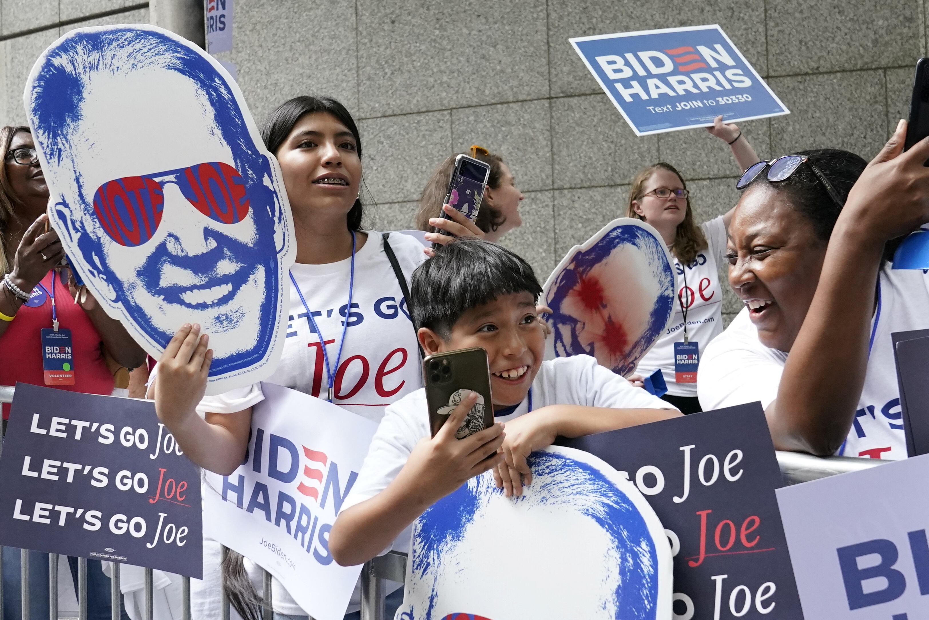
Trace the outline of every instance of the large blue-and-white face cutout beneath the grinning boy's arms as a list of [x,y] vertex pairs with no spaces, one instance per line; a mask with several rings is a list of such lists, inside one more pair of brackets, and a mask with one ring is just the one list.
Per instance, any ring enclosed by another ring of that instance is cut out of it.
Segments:
[[671,549],[658,517],[594,456],[530,456],[532,484],[504,497],[487,472],[416,521],[404,620],[671,617]]

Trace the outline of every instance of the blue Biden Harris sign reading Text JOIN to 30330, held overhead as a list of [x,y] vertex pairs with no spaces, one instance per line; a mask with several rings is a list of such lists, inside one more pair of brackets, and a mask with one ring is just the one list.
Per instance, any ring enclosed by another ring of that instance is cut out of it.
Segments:
[[790,113],[717,25],[570,42],[636,136]]

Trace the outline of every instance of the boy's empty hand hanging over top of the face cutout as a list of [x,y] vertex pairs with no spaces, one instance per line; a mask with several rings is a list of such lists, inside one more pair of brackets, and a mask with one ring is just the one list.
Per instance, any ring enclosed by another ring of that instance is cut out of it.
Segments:
[[543,407],[506,423],[506,439],[501,447],[504,462],[493,470],[497,488],[504,495],[522,495],[523,484],[529,486],[532,470],[527,458],[533,450],[548,447],[557,435],[553,407]]

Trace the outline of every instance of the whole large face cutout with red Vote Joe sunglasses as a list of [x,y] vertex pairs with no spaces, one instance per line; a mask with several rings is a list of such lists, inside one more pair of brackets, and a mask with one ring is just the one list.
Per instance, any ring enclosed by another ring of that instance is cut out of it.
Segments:
[[[116,38],[125,32],[137,54],[154,45],[182,56],[134,66],[132,45]],[[67,92],[75,78],[47,58],[78,62],[70,37],[129,60],[110,70],[88,63],[74,72],[80,95],[61,103],[55,89]],[[76,31],[39,59],[26,102],[52,221],[85,283],[152,354],[182,324],[200,323],[215,352],[215,393],[220,381],[234,387],[230,376],[242,385],[263,378],[249,376],[255,368],[272,370],[295,250],[280,172],[241,94],[189,46],[151,27]]]

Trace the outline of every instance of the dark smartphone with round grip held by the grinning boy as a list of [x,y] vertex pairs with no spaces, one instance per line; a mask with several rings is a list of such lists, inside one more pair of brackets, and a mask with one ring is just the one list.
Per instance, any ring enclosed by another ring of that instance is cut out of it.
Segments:
[[429,409],[429,428],[435,437],[451,412],[462,402],[468,390],[478,392],[478,402],[455,431],[455,437],[468,435],[493,426],[491,400],[491,366],[487,351],[481,348],[436,353],[423,360],[425,402]]

